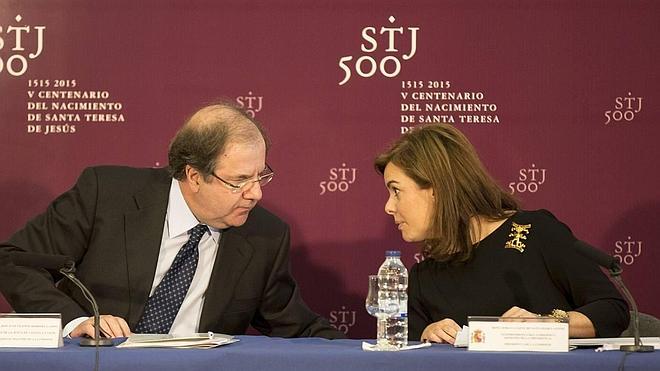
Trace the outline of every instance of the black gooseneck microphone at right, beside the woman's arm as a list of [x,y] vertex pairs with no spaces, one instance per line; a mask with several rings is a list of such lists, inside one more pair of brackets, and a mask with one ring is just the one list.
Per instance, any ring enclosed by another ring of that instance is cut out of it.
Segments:
[[610,276],[619,286],[621,293],[632,307],[632,318],[630,320],[633,321],[633,335],[635,337],[635,344],[622,345],[619,350],[624,352],[654,352],[655,348],[652,345],[641,345],[641,340],[639,337],[639,310],[637,310],[637,303],[635,302],[635,299],[633,298],[630,291],[628,291],[628,288],[621,279],[621,273],[623,272],[623,269],[621,269],[621,264],[619,264],[615,257],[604,253],[603,251],[589,245],[586,242],[576,240],[574,246],[576,250],[584,257],[597,263],[601,267],[607,268],[607,270],[610,271]]

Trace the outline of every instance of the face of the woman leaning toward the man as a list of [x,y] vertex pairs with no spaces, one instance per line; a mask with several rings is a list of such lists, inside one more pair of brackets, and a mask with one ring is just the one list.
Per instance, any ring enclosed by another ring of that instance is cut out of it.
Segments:
[[421,189],[403,170],[389,163],[383,172],[385,187],[390,197],[385,212],[394,217],[394,223],[407,242],[428,238],[434,209],[433,189]]

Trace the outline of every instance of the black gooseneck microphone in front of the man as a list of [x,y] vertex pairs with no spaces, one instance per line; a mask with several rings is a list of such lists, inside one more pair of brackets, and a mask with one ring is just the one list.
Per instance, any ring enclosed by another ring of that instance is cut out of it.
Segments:
[[75,276],[76,263],[73,258],[66,255],[49,255],[18,251],[10,253],[10,256],[14,265],[58,271],[78,286],[85,299],[92,304],[92,311],[94,312],[94,339],[83,339],[80,341],[80,345],[96,347],[113,345],[111,339],[101,338],[99,326],[101,316],[99,314],[98,305],[96,304],[96,300],[92,293],[89,292],[87,287],[85,287],[85,285]]

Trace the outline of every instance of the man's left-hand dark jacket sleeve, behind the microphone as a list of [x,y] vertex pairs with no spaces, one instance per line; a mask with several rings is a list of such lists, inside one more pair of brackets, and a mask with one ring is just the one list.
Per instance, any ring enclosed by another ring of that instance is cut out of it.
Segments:
[[55,199],[45,213],[0,244],[0,290],[16,312],[59,312],[63,323],[89,315],[55,286],[61,276],[14,266],[9,253],[68,255],[80,261],[93,228],[96,190],[95,172],[86,169],[75,186]]

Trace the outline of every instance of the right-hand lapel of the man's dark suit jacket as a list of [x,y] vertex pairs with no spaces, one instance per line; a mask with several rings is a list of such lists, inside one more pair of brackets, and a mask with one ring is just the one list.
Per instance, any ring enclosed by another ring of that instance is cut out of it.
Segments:
[[212,328],[234,295],[234,288],[252,258],[254,248],[237,229],[223,232],[213,273],[206,289],[199,329]]

